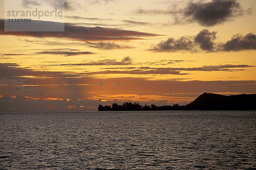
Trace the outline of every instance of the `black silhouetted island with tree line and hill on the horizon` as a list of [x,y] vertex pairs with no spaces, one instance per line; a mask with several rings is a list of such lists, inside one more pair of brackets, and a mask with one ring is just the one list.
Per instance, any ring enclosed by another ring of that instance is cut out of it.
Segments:
[[203,93],[187,105],[140,105],[125,102],[122,105],[99,105],[99,111],[256,111],[256,94],[225,96]]

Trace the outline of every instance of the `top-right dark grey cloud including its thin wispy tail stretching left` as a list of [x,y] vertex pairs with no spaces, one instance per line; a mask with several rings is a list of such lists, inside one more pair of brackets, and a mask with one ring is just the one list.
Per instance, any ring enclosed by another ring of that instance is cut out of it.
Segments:
[[199,23],[201,26],[214,26],[250,13],[250,9],[242,8],[237,0],[212,0],[205,2],[189,0],[186,6],[174,3],[166,10],[138,8],[133,14],[169,14],[173,15],[175,24]]

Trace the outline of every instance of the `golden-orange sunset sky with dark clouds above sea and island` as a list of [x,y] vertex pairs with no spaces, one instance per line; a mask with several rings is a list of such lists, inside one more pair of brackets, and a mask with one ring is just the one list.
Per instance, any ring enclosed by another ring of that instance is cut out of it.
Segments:
[[21,10],[64,4],[64,22],[33,21],[64,23],[64,31],[5,31],[0,0],[0,111],[256,93],[255,0],[17,2]]

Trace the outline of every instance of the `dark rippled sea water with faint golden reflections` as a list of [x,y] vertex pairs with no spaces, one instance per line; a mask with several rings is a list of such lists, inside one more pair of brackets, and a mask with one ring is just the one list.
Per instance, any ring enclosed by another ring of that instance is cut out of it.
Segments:
[[256,112],[0,112],[0,169],[256,169]]

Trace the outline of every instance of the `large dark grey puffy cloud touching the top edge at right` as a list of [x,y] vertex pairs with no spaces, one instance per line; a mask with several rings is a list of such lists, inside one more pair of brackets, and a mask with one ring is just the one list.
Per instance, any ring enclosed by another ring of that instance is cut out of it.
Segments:
[[197,22],[202,26],[214,26],[243,15],[244,9],[237,0],[212,0],[209,3],[190,1],[183,15],[176,16],[176,23]]

